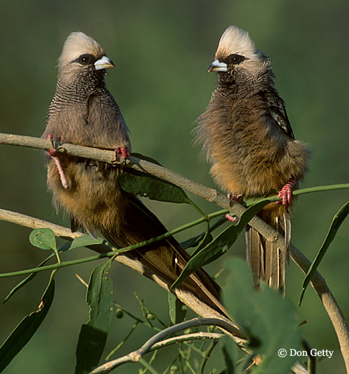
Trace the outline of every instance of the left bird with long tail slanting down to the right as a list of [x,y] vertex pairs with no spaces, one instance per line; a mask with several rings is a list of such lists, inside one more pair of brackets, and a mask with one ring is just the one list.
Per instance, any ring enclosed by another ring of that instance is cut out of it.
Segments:
[[[85,147],[109,149],[128,158],[128,127],[105,84],[106,70],[114,68],[104,48],[85,33],[70,33],[58,64],[57,88],[46,117],[44,139],[52,140],[47,153],[47,188],[57,211],[70,217],[72,231],[102,235],[117,248],[138,244],[167,232],[160,220],[140,201],[119,186],[122,167],[59,153],[54,140]],[[174,237],[131,250],[126,256],[168,288],[190,259]],[[199,269],[182,285],[205,305],[225,313],[220,288]]]

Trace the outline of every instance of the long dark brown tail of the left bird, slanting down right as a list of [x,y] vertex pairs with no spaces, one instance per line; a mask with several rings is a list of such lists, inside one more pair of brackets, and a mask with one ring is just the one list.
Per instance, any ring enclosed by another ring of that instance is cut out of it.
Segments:
[[[124,193],[124,191],[122,194],[128,204],[121,227],[118,230],[115,230],[114,227],[100,228],[101,233],[108,241],[121,248],[167,232],[158,218],[137,197]],[[127,255],[137,258],[144,267],[161,278],[169,288],[190,259],[188,253],[174,237],[149,244],[139,250],[132,250]],[[184,283],[179,285],[179,288],[191,292],[221,315],[228,316],[220,301],[220,287],[204,270],[195,271],[184,280]]]

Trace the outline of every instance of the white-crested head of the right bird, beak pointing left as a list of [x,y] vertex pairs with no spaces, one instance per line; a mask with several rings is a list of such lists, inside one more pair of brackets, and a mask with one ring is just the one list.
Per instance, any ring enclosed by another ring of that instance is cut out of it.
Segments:
[[230,26],[219,40],[215,60],[208,71],[218,72],[219,80],[225,84],[239,84],[269,70],[269,65],[269,59],[255,49],[248,33]]

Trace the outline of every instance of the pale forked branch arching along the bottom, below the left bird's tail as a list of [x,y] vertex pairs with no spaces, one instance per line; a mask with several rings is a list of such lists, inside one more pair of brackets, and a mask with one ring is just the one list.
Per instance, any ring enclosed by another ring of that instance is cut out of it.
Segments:
[[[94,369],[94,371],[91,371],[90,374],[107,374],[107,373],[110,373],[110,371],[114,370],[114,368],[117,368],[118,366],[121,366],[122,364],[126,364],[126,362],[138,362],[140,358],[143,357],[144,354],[146,354],[147,352],[150,352],[150,350],[155,350],[156,348],[165,347],[166,345],[170,344],[169,342],[173,344],[173,343],[179,343],[180,341],[189,341],[189,340],[193,340],[193,336],[195,336],[196,339],[203,338],[204,336],[205,338],[208,338],[209,333],[207,334],[198,333],[198,334],[189,334],[189,335],[179,336],[177,338],[171,338],[171,339],[167,339],[163,341],[163,338],[165,338],[165,336],[172,335],[176,333],[177,331],[190,329],[191,327],[208,326],[208,325],[218,326],[227,331],[230,331],[230,328],[231,328],[230,324],[227,324],[227,322],[223,320],[219,320],[217,318],[193,318],[193,320],[188,320],[185,322],[181,322],[179,324],[174,324],[174,326],[168,327],[167,329],[163,329],[162,331],[158,332],[158,334],[155,334],[154,336],[152,336],[138,350],[135,350],[129,354],[126,354],[126,356],[120,357],[119,359],[109,361],[106,364],[101,365],[98,368]],[[220,338],[223,334],[209,334],[209,335],[211,336],[210,338]]]

